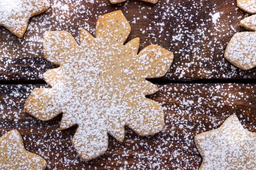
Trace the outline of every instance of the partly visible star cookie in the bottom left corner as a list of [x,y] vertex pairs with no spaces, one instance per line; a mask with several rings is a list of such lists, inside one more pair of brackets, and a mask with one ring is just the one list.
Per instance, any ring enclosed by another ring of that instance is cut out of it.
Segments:
[[17,130],[9,131],[0,138],[1,170],[44,170],[47,162],[35,153],[25,150]]

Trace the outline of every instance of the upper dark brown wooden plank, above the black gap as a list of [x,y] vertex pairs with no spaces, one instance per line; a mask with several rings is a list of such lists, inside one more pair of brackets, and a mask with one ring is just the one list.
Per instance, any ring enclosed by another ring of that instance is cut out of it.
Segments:
[[[42,80],[55,66],[42,54],[45,31],[64,30],[79,40],[79,30],[94,34],[96,19],[121,9],[131,24],[131,35],[141,38],[141,49],[154,43],[175,54],[166,80],[256,78],[256,69],[242,71],[224,59],[227,42],[237,31],[245,12],[236,0],[139,0],[111,5],[108,0],[73,3],[51,0],[51,8],[32,17],[22,39],[0,28],[0,80]],[[216,23],[212,15],[220,13]]]

